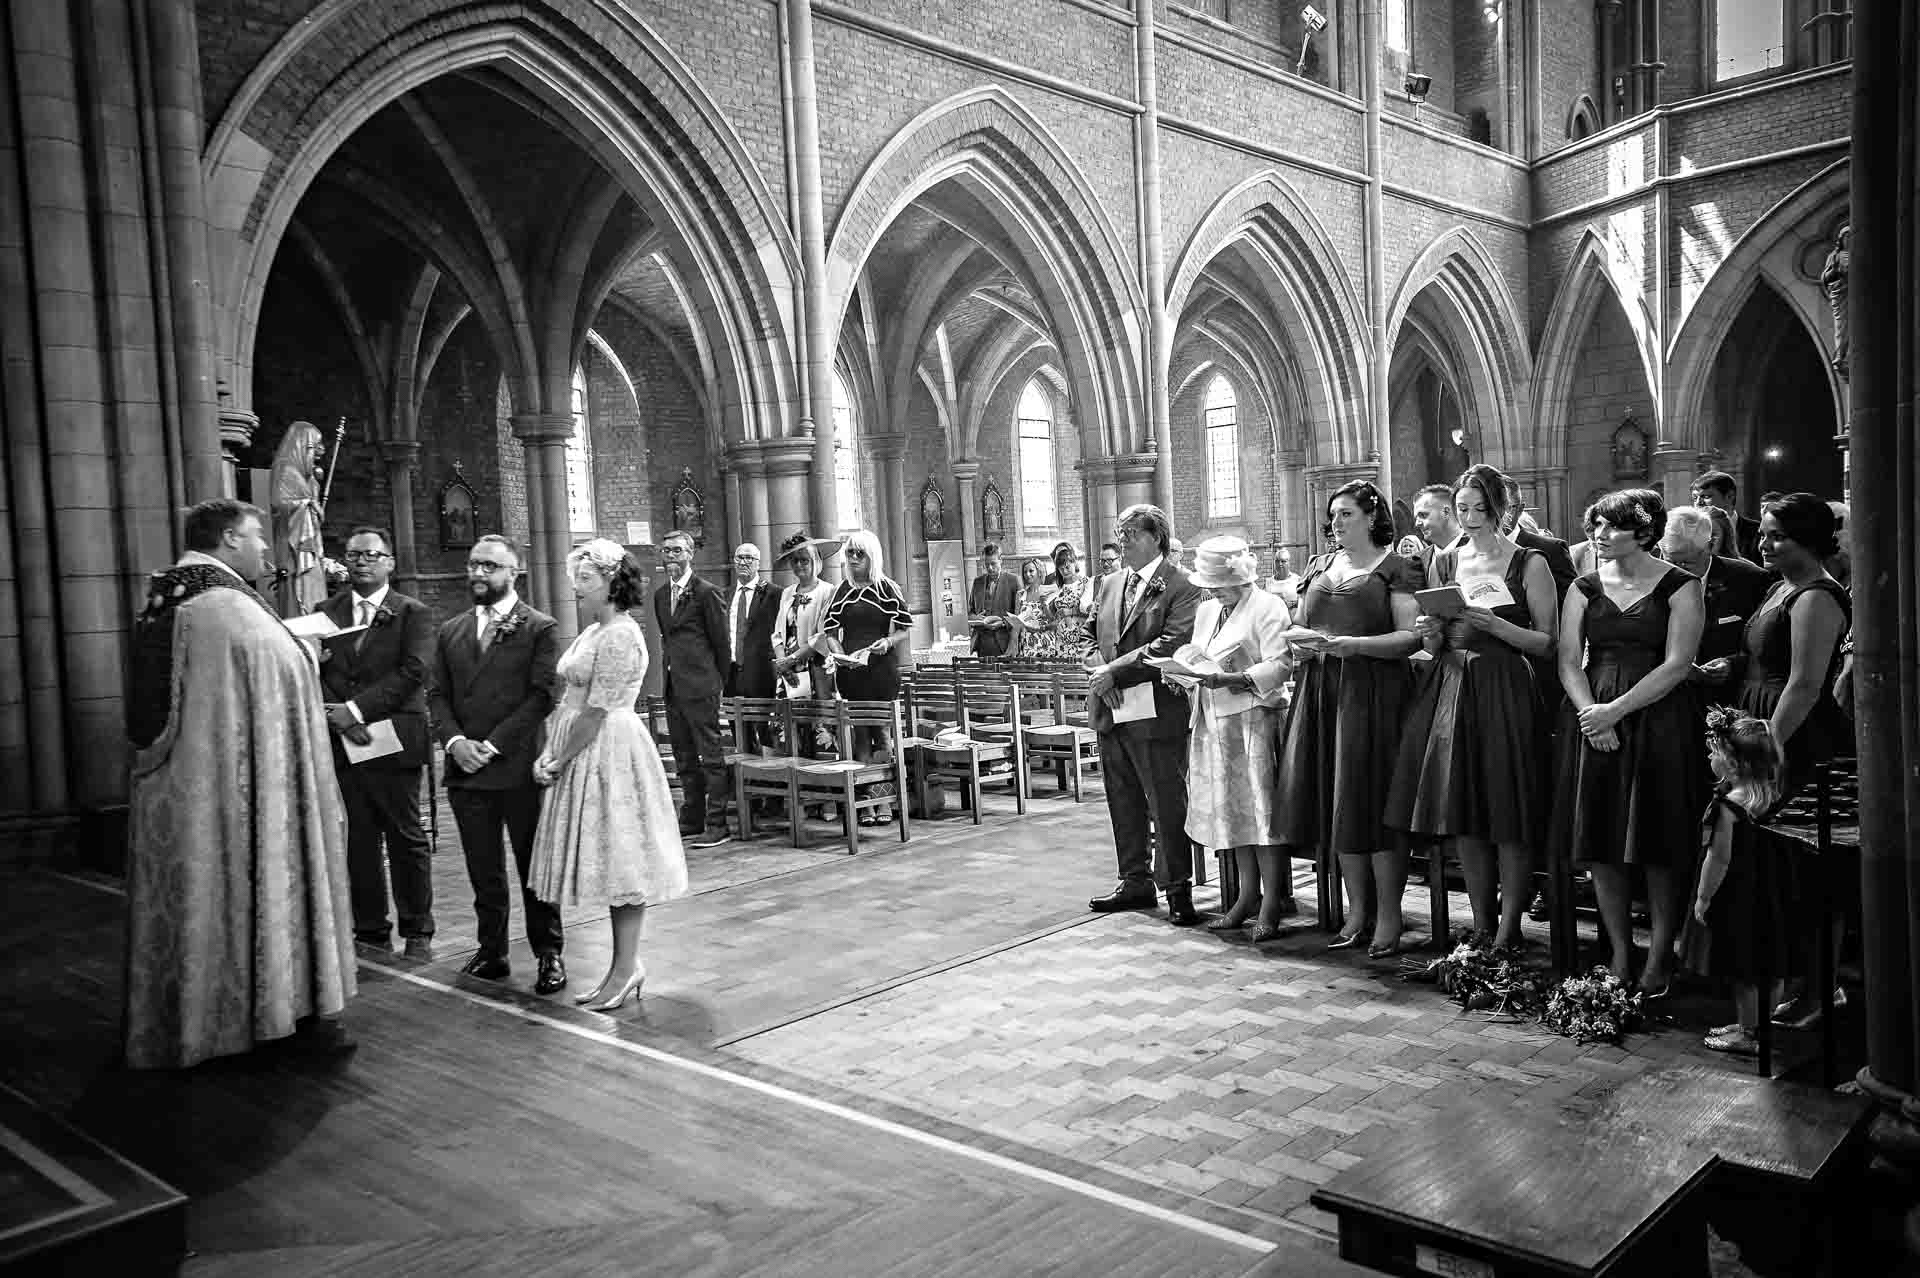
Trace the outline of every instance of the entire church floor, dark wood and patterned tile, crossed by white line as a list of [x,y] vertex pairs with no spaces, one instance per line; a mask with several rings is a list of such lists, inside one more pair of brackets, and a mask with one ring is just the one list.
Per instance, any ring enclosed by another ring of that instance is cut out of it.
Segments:
[[[507,982],[457,975],[472,911],[442,819],[436,956],[363,950],[355,1057],[182,1077],[108,1067],[111,885],[15,869],[0,1077],[192,1194],[194,1274],[1306,1274],[1340,1272],[1311,1188],[1407,1124],[1476,1096],[1584,1105],[1716,1061],[1699,1027],[1726,1019],[1680,1000],[1680,1027],[1578,1046],[1325,954],[1309,919],[1254,950],[1091,915],[1096,794],[989,800],[981,827],[856,858],[768,840],[689,865],[693,894],[647,917],[645,1000],[603,1017],[534,996],[522,942]],[[584,988],[605,921],[566,929]]]

